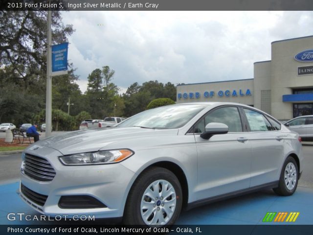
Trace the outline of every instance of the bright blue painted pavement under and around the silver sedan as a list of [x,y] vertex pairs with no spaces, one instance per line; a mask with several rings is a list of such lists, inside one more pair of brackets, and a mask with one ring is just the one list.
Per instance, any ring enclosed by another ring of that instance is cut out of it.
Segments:
[[[9,221],[10,212],[40,215],[26,205],[16,193],[19,183],[0,185],[0,224],[30,225],[53,224],[56,222],[41,221]],[[293,223],[279,224],[313,225],[313,189],[298,187],[289,197],[276,196],[271,190],[248,194],[245,196],[209,204],[204,207],[184,211],[180,214],[177,225],[259,225],[277,222],[262,222],[266,213],[300,212]],[[284,226],[283,226],[284,227]]]

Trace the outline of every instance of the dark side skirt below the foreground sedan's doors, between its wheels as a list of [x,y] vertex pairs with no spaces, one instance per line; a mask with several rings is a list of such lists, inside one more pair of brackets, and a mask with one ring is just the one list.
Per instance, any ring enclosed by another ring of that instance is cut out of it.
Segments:
[[238,196],[241,196],[241,195],[245,195],[245,194],[248,194],[248,193],[260,191],[260,190],[263,190],[263,189],[277,188],[278,187],[278,183],[279,183],[279,181],[274,181],[274,182],[270,182],[270,183],[267,183],[267,184],[254,186],[252,188],[245,188],[245,189],[241,189],[241,190],[238,190],[238,191],[233,191],[233,192],[230,192],[230,193],[225,193],[225,194],[218,195],[218,196],[201,199],[201,200],[198,200],[198,201],[195,201],[195,202],[188,203],[187,207],[184,208],[184,211],[189,211],[189,210],[191,210],[193,208],[200,207],[200,206],[203,206],[203,205],[206,205],[206,204],[210,204],[210,203],[214,203],[214,202],[218,202],[218,201],[223,201],[225,199],[238,197]]

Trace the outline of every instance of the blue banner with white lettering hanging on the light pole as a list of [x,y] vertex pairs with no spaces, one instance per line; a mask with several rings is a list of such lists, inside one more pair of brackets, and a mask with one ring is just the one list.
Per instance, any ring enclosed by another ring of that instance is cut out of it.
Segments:
[[68,43],[52,46],[52,72],[67,71]]

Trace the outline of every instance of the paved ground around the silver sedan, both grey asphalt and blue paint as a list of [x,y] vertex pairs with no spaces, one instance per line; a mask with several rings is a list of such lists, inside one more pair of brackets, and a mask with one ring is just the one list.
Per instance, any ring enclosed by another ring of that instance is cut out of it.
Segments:
[[[268,212],[299,212],[294,222],[279,224],[313,225],[313,146],[304,145],[304,172],[296,192],[290,197],[277,196],[272,190],[264,190],[191,211],[183,211],[177,225],[264,225],[275,222],[263,221]],[[27,206],[16,193],[21,165],[20,154],[0,156],[0,224],[55,224],[56,221],[8,220],[10,212],[40,215]],[[97,220],[100,223],[106,223]],[[70,224],[72,221],[63,221]],[[297,234],[297,233],[295,233]]]

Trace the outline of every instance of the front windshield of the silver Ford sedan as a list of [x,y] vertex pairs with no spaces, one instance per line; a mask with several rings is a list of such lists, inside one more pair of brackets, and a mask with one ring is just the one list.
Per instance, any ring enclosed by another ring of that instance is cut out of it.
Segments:
[[206,108],[203,104],[168,105],[139,113],[116,127],[138,126],[152,129],[173,129],[184,126]]

